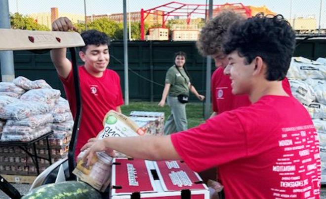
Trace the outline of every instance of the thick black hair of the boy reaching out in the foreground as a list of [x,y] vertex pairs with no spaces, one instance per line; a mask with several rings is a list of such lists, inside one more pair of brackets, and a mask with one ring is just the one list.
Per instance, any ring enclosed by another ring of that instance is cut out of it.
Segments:
[[232,25],[224,53],[238,51],[249,64],[257,56],[267,64],[266,79],[283,80],[295,48],[295,33],[282,15],[253,17]]

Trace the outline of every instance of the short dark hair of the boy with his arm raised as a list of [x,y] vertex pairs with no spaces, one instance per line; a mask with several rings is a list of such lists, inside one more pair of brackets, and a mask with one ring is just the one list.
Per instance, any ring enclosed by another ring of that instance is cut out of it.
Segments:
[[85,52],[87,45],[110,45],[109,37],[102,32],[96,30],[84,31],[81,33],[82,39],[85,42],[85,46],[80,47],[80,51]]

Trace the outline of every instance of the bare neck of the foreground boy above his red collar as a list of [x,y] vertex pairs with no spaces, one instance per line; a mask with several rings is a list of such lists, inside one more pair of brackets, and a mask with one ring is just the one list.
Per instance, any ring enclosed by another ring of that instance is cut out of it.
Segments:
[[266,95],[288,96],[283,89],[282,81],[267,81],[264,79],[260,83],[254,84],[254,88],[249,93],[249,100],[251,103],[255,103]]

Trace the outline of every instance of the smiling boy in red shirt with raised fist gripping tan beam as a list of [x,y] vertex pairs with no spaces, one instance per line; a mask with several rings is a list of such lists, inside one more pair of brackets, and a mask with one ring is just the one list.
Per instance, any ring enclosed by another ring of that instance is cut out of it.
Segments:
[[[67,17],[52,23],[52,31],[75,30]],[[120,77],[117,72],[107,69],[109,64],[109,38],[96,30],[81,34],[85,46],[81,47],[80,58],[84,62],[79,67],[82,97],[82,118],[75,150],[75,159],[88,139],[102,131],[105,114],[109,110],[121,112],[123,104]],[[70,109],[76,116],[76,95],[72,65],[66,57],[66,48],[51,50],[51,59],[63,83]]]

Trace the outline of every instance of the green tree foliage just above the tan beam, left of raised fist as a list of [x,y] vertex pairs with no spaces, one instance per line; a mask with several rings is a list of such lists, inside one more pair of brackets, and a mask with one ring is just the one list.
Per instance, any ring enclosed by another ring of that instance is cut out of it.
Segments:
[[38,24],[32,17],[23,16],[18,12],[10,15],[10,25],[12,29],[49,31],[49,29]]

